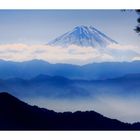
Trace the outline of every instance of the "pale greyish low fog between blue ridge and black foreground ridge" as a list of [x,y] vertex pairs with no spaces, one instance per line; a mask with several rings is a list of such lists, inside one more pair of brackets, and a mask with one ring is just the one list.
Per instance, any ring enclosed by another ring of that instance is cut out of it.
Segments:
[[106,117],[123,122],[140,122],[140,97],[121,98],[102,96],[96,99],[85,100],[32,98],[24,99],[24,101],[31,105],[37,105],[56,112],[93,110]]

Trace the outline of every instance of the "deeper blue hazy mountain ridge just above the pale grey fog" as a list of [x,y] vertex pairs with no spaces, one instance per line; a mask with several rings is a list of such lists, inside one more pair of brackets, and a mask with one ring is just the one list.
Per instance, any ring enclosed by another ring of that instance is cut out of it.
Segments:
[[0,92],[19,98],[88,99],[96,97],[140,97],[140,74],[106,80],[71,80],[61,76],[38,75],[26,80],[0,80]]

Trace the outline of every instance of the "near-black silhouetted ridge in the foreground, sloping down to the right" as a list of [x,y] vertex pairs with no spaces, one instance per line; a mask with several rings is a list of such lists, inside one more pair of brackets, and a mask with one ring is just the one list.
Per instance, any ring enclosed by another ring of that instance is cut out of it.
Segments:
[[140,124],[123,123],[94,111],[75,113],[28,105],[8,93],[0,93],[1,130],[140,130]]

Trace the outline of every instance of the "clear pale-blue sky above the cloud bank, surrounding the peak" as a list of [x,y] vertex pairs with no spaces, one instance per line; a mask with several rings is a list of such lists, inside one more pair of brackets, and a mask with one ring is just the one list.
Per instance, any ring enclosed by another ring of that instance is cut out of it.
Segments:
[[139,45],[137,17],[121,10],[0,10],[0,44],[46,44],[76,26],[92,25],[120,44]]

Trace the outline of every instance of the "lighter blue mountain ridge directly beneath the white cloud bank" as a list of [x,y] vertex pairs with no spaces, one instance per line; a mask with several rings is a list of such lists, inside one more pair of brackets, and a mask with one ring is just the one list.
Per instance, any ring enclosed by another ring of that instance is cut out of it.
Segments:
[[140,61],[102,62],[83,66],[71,64],[50,64],[42,60],[12,62],[0,60],[0,79],[31,79],[40,74],[62,76],[69,79],[103,80],[126,74],[140,73]]

